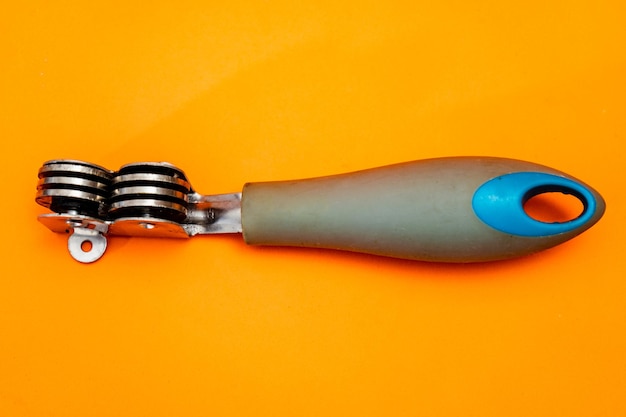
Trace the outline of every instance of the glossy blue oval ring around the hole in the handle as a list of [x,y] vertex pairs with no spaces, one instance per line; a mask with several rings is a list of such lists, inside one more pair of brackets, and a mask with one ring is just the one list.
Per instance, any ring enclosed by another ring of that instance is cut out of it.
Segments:
[[[570,221],[546,223],[530,217],[524,204],[530,198],[549,192],[577,197],[583,212]],[[569,178],[543,172],[514,172],[493,178],[474,193],[472,207],[485,224],[516,236],[543,237],[575,230],[590,221],[596,212],[596,199],[585,186]]]

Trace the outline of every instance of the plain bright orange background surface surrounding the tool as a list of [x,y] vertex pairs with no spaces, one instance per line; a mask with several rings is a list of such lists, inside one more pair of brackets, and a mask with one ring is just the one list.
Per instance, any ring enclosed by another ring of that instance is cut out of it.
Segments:
[[[626,415],[623,1],[127,3],[0,15],[0,415]],[[237,235],[81,265],[36,221],[53,158],[209,194],[449,155],[563,170],[607,213],[479,265]]]

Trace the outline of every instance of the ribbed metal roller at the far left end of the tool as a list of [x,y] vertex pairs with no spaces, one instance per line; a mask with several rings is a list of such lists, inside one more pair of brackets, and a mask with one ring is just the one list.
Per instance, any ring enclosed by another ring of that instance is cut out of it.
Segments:
[[39,169],[38,204],[56,213],[104,218],[112,173],[83,161],[52,160]]

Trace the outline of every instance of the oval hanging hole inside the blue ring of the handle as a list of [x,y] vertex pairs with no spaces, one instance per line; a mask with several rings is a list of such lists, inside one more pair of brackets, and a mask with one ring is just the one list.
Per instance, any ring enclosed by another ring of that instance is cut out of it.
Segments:
[[539,187],[524,199],[524,212],[542,223],[567,223],[583,215],[585,198],[575,190],[564,187]]

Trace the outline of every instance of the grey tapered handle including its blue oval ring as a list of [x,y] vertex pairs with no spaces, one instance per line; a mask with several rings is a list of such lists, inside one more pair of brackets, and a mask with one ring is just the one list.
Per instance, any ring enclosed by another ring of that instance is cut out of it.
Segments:
[[[579,197],[584,213],[552,225],[520,212],[530,196],[552,190]],[[248,244],[443,262],[537,252],[583,232],[603,212],[602,197],[567,174],[489,157],[430,159],[329,177],[249,183],[242,193]]]

